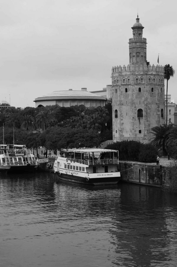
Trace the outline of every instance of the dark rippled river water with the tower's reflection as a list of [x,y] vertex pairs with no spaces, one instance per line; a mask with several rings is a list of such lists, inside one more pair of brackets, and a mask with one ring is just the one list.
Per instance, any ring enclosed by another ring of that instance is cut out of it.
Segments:
[[0,266],[176,266],[177,195],[0,174]]

